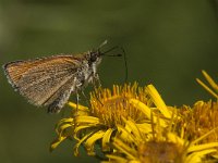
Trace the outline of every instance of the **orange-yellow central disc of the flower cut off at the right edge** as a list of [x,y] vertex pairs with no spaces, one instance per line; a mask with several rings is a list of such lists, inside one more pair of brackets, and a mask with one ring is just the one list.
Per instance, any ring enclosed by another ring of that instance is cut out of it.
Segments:
[[198,101],[193,108],[184,105],[179,110],[180,121],[177,128],[183,130],[183,135],[189,140],[195,140],[209,130],[214,130],[207,138],[203,139],[201,143],[218,141],[218,102]]

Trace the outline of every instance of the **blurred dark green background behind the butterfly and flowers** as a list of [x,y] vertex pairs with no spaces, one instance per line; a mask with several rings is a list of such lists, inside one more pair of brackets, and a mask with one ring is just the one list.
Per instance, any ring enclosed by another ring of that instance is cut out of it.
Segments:
[[[154,84],[167,104],[193,104],[210,96],[195,78],[218,70],[216,0],[1,0],[0,64],[59,53],[84,52],[105,39],[105,50],[121,46],[129,80]],[[105,58],[105,87],[122,84],[120,58]],[[90,88],[89,88],[90,89]],[[66,106],[68,109],[68,106]],[[0,71],[0,162],[98,162],[72,155],[72,141],[49,153],[55,124],[62,117],[26,102]]]

